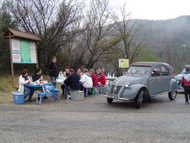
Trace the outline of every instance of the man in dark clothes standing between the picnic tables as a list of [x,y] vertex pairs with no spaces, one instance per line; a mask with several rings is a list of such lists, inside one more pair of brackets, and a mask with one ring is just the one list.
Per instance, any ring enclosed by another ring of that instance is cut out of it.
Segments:
[[56,79],[59,75],[59,69],[57,66],[57,58],[53,57],[51,63],[49,64],[48,67],[49,70],[49,77],[54,86],[56,86]]

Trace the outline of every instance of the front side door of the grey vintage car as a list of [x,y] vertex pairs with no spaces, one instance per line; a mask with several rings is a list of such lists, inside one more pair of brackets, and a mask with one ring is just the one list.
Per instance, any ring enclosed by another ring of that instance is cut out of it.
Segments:
[[160,92],[160,66],[156,66],[152,69],[152,74],[148,79],[148,88],[151,95],[158,94]]

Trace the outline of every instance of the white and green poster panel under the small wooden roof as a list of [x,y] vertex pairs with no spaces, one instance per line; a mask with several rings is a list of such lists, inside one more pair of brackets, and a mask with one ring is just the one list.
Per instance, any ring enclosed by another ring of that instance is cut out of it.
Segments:
[[29,40],[11,40],[12,62],[15,64],[37,64],[36,43]]

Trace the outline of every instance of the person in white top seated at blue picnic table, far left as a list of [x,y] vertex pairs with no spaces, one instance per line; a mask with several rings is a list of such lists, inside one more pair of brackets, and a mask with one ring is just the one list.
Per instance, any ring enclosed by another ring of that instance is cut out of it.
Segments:
[[27,70],[23,70],[21,75],[19,76],[19,88],[18,91],[25,95],[25,98],[28,97],[28,100],[31,101],[34,90],[24,85],[31,82],[30,77],[28,76]]

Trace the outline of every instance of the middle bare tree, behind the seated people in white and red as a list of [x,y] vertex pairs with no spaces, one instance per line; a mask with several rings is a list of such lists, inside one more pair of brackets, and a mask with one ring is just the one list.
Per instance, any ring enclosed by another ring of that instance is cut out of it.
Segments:
[[81,52],[78,60],[91,68],[110,52],[120,39],[110,35],[112,30],[109,0],[91,0],[86,13]]

